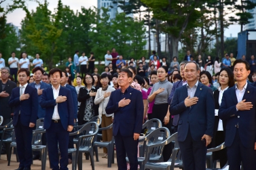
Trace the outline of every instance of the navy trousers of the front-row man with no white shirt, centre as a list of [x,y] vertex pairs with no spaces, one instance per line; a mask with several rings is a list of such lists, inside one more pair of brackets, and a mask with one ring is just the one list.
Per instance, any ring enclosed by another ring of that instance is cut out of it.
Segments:
[[115,136],[115,149],[117,156],[118,170],[127,170],[126,153],[130,161],[130,170],[138,169],[138,144],[139,140],[134,140],[132,136],[122,136],[118,131]]

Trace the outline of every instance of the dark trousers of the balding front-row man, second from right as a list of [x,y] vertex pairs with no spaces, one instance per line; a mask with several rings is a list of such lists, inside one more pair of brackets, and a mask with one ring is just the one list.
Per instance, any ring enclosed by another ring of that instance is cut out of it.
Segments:
[[[190,129],[185,141],[179,142],[184,170],[205,170],[206,152],[205,143],[193,140]],[[233,170],[233,169],[232,169]]]

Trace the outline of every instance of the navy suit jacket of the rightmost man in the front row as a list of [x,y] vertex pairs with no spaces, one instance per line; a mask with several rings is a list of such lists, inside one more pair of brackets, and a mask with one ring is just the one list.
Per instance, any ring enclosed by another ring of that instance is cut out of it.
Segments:
[[251,102],[251,110],[236,111],[236,86],[227,89],[223,93],[221,106],[219,108],[219,118],[226,122],[225,126],[225,146],[231,146],[236,135],[236,125],[242,145],[246,148],[254,147],[256,142],[256,88],[247,84],[242,100]]

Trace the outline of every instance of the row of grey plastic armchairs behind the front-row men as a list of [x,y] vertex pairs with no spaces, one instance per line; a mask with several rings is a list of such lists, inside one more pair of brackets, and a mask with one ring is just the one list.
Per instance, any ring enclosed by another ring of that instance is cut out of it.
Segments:
[[[70,135],[74,136],[74,144],[76,148],[69,149],[69,153],[72,153],[73,163],[72,169],[75,170],[78,167],[78,170],[82,169],[82,153],[89,154],[90,162],[92,165],[92,169],[94,170],[94,152],[96,155],[96,161],[98,161],[98,147],[106,147],[108,150],[108,167],[111,167],[111,163],[114,163],[114,154],[113,154],[113,146],[114,146],[114,137],[112,137],[111,142],[100,142],[101,134],[98,131],[103,131],[106,129],[111,129],[113,124],[109,125],[109,127],[98,128],[101,123],[100,116],[95,116],[92,120],[90,120],[85,125],[75,126],[73,133]],[[13,127],[5,125],[4,127],[0,127],[3,129],[3,134],[1,137],[0,144],[0,152],[2,143],[5,142],[8,146],[8,142],[10,144],[10,150],[7,152],[7,160],[8,165],[10,165],[10,156],[12,152],[12,148],[16,147],[15,144],[15,134],[12,135],[12,140],[5,139],[3,140],[3,135],[5,131],[13,131]],[[170,135],[170,131],[165,127],[162,127],[162,123],[158,119],[151,119],[143,124],[143,129],[147,129],[146,136],[143,139],[139,140],[140,143],[143,143],[140,146],[140,157],[138,158],[140,169],[174,169],[175,167],[183,168],[183,163],[181,159],[181,152],[179,150],[179,142],[177,142],[177,133]],[[33,131],[33,150],[41,152],[41,169],[45,169],[46,165],[46,156],[47,156],[47,146],[43,146],[41,144],[41,136],[45,133],[43,129],[43,119],[37,120],[37,129]],[[10,142],[11,141],[11,142]],[[163,162],[162,151],[166,144],[172,142],[174,144],[174,148],[172,150],[172,156],[170,158],[171,165],[160,165],[157,163]],[[78,148],[78,149],[77,149]],[[217,148],[208,149],[208,152],[215,152],[217,150],[221,150],[225,148],[224,144],[218,146]],[[18,156],[16,155],[17,161]],[[212,167],[213,161],[211,160],[211,154],[208,154],[208,163],[207,167]],[[127,163],[129,163],[128,158],[126,158]]]

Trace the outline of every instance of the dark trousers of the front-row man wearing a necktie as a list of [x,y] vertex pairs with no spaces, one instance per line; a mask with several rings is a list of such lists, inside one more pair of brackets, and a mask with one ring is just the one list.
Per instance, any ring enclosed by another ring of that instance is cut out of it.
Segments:
[[18,157],[20,158],[19,167],[31,167],[33,161],[31,146],[33,129],[22,125],[20,116],[18,116],[18,123],[14,126],[14,132],[16,135]]

